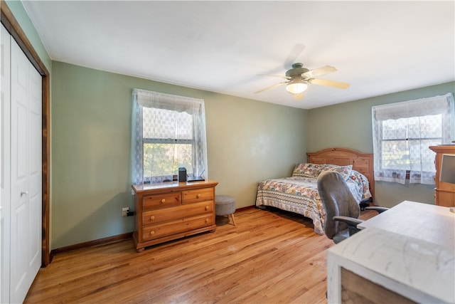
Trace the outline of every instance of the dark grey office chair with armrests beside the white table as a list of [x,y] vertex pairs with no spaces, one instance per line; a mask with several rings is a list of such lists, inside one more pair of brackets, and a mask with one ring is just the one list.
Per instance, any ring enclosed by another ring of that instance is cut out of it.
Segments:
[[[339,243],[360,231],[357,229],[357,225],[363,222],[358,219],[360,206],[350,193],[348,184],[341,174],[333,171],[319,174],[318,192],[326,209],[324,232],[328,239]],[[366,209],[380,213],[387,210],[387,208],[379,206],[371,206]]]

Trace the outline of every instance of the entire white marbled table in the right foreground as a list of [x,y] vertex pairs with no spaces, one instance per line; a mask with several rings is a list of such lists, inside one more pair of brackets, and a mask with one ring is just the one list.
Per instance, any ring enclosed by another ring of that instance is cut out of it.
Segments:
[[328,249],[328,303],[350,292],[346,271],[361,278],[366,300],[379,294],[400,302],[385,288],[417,303],[455,303],[455,214],[448,207],[403,201],[358,227]]

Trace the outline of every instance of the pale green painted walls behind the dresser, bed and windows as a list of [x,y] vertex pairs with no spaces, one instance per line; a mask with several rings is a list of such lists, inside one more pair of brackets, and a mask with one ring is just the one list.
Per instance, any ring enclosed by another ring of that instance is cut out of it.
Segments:
[[[257,182],[291,174],[306,152],[373,152],[371,107],[455,91],[455,83],[299,110],[51,61],[20,1],[6,1],[51,75],[50,246],[132,231],[129,184],[132,88],[205,100],[208,176],[218,194],[255,204]],[[433,186],[375,183],[375,202],[434,203]]]

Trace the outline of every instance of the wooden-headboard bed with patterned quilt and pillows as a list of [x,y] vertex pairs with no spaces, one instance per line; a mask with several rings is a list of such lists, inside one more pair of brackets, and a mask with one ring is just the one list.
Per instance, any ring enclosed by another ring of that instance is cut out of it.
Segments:
[[340,172],[360,206],[368,206],[374,197],[373,154],[338,147],[306,154],[308,162],[297,164],[291,177],[259,182],[256,206],[273,206],[306,216],[313,221],[316,234],[323,235],[326,211],[319,198],[318,175]]

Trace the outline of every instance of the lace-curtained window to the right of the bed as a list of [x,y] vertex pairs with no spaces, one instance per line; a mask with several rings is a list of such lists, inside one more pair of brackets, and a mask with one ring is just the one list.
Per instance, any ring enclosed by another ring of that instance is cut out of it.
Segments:
[[432,145],[455,140],[454,97],[410,100],[372,108],[375,180],[434,184]]

